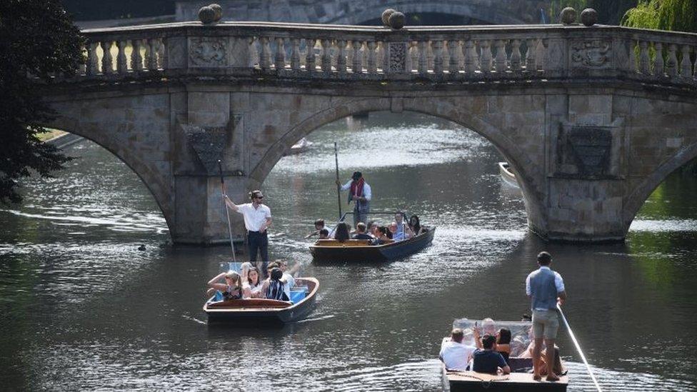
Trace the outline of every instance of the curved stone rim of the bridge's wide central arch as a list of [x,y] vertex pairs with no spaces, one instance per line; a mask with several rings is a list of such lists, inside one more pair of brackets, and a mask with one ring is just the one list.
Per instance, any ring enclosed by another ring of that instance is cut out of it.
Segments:
[[[396,109],[395,105],[399,106],[399,109]],[[284,156],[289,146],[292,146],[321,126],[356,114],[396,110],[412,111],[445,119],[483,136],[496,147],[504,159],[516,170],[518,182],[521,184],[523,191],[528,223],[531,228],[536,230],[543,227],[543,213],[545,213],[545,210],[543,208],[541,184],[529,172],[529,169],[535,170],[536,164],[526,156],[526,153],[517,148],[516,144],[501,129],[488,123],[488,121],[466,111],[457,111],[442,104],[423,106],[423,101],[421,100],[403,99],[402,101],[401,99],[383,97],[353,99],[330,106],[328,109],[319,111],[303,121],[291,124],[282,132],[282,136],[269,147],[259,164],[252,169],[249,174],[251,181],[249,185],[251,188],[258,188]]]

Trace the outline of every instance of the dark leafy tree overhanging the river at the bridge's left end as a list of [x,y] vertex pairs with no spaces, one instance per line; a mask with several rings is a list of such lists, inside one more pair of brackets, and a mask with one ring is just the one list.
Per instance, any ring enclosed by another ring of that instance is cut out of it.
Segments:
[[79,30],[58,0],[1,0],[0,37],[0,203],[18,203],[22,178],[50,176],[68,161],[36,136],[54,116],[40,84],[74,73],[84,59]]

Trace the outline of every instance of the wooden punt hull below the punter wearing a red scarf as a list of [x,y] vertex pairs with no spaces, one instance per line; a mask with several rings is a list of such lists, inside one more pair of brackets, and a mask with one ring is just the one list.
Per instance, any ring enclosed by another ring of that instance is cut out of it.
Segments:
[[413,238],[394,241],[384,245],[371,245],[370,240],[348,240],[339,242],[334,239],[318,240],[310,246],[314,261],[388,261],[409,256],[421,251],[433,241],[435,227],[423,227],[425,230]]

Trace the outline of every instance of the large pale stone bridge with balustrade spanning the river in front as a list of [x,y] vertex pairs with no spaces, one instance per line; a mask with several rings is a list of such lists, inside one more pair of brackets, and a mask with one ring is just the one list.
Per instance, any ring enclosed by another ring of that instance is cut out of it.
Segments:
[[296,141],[366,111],[486,137],[518,173],[529,227],[551,240],[623,239],[651,191],[697,156],[695,34],[260,22],[84,34],[84,69],[40,86],[59,114],[46,126],[130,166],[177,243],[227,237],[218,159],[243,201]]

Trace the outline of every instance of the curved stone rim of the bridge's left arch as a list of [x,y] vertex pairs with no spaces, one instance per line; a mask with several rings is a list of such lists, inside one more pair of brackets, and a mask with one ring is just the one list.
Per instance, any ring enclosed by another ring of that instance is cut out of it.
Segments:
[[97,144],[101,148],[109,151],[114,155],[119,161],[123,162],[131,172],[136,174],[140,179],[141,183],[144,184],[146,189],[153,196],[155,203],[160,208],[162,215],[167,223],[167,228],[170,233],[174,225],[174,211],[171,207],[170,194],[166,191],[164,184],[162,184],[161,174],[156,173],[146,162],[144,162],[139,156],[137,151],[131,149],[124,149],[124,146],[118,144],[117,139],[109,136],[110,132],[104,130],[104,126],[91,127],[91,129],[84,129],[83,126],[79,124],[73,124],[70,119],[66,117],[59,116],[49,124],[43,124],[43,126],[60,129],[61,131],[68,132],[69,134],[74,134],[87,139],[94,144]]

